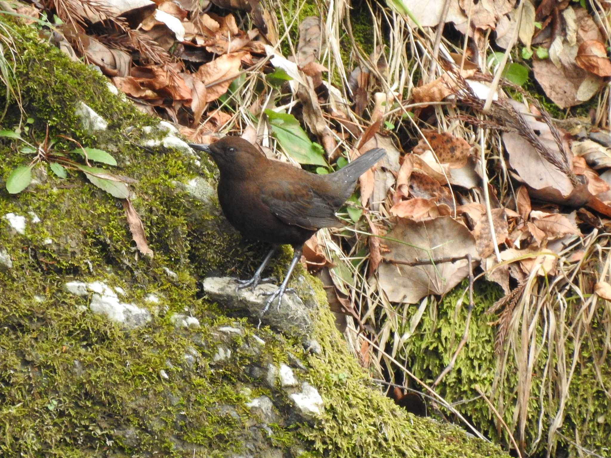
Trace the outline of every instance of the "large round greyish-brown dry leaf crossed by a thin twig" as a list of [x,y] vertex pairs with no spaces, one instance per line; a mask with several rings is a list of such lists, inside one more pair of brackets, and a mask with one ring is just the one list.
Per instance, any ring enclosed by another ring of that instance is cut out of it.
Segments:
[[387,236],[389,252],[378,268],[379,285],[391,302],[415,304],[427,294],[445,294],[468,274],[467,260],[436,265],[406,266],[389,260],[415,261],[470,254],[477,258],[475,239],[469,230],[449,216],[430,221],[398,220]]

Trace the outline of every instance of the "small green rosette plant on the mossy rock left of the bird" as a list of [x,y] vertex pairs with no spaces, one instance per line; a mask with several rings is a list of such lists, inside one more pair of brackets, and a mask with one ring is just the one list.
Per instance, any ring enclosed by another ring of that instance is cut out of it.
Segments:
[[[26,122],[26,126],[23,129],[26,133],[29,130],[27,127],[28,122]],[[6,180],[6,189],[9,191],[9,194],[18,194],[26,189],[32,181],[32,169],[35,165],[46,162],[49,164],[51,171],[59,178],[67,178],[67,170],[81,170],[81,172],[85,173],[87,180],[114,197],[127,198],[130,195],[130,189],[127,183],[133,182],[134,180],[125,176],[112,175],[112,173],[109,173],[106,169],[92,167],[90,165],[89,161],[101,162],[107,165],[117,165],[115,158],[104,150],[85,148],[76,142],[76,140],[66,136],[59,136],[71,142],[75,142],[78,148],[70,151],[56,151],[53,149],[53,145],[59,141],[59,137],[49,140],[48,128],[45,135],[45,141],[38,146],[24,139],[21,136],[21,129],[0,131],[0,137],[20,140],[25,145],[20,148],[19,153],[24,156],[34,156],[28,165],[20,165],[20,167],[17,167],[10,173],[9,178]],[[75,159],[71,158],[71,155],[82,157],[85,163],[81,164],[81,162],[75,161]]]

